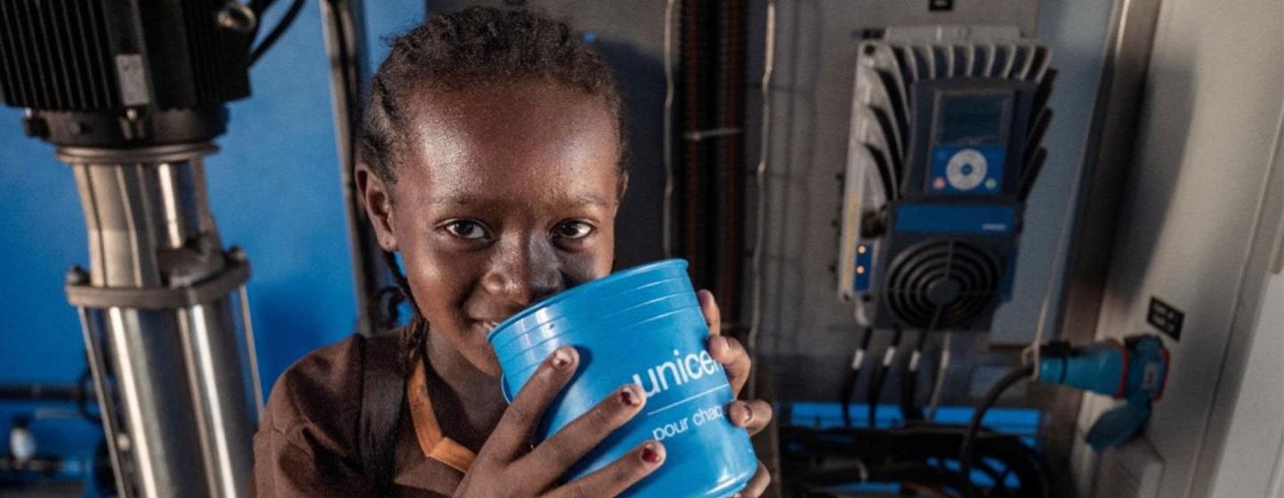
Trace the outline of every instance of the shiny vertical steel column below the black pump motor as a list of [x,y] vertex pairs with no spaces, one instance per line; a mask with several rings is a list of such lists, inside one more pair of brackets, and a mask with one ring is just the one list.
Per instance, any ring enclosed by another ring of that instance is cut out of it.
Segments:
[[125,497],[240,497],[262,403],[244,302],[205,202],[209,144],[62,148],[90,271],[68,275]]

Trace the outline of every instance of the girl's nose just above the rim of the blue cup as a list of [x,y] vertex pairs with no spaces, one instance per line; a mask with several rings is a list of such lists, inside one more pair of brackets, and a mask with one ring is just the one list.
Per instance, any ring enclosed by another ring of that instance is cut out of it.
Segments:
[[492,295],[525,307],[565,288],[556,249],[547,237],[514,237],[498,249],[482,282]]

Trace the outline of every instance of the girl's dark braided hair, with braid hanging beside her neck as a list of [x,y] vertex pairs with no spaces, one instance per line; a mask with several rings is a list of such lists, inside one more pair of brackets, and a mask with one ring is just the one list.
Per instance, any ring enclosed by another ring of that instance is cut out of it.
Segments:
[[[392,51],[375,73],[370,101],[363,114],[357,153],[385,185],[397,182],[397,166],[406,150],[410,127],[407,103],[412,92],[449,92],[478,86],[519,81],[547,81],[565,89],[601,98],[615,117],[620,144],[616,163],[625,177],[628,146],[624,110],[615,78],[602,56],[565,23],[528,10],[469,8],[439,14],[392,40]],[[623,182],[621,182],[623,186]],[[392,199],[395,203],[395,199]],[[381,289],[372,300],[384,303],[384,327],[398,321],[397,307],[410,302],[413,316],[402,332],[407,371],[422,347],[428,323],[410,291],[410,282],[397,258],[384,252],[395,288]]]

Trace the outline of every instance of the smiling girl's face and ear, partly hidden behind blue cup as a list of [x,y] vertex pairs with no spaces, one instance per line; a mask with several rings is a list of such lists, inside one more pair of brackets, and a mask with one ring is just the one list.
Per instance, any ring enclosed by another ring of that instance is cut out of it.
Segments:
[[601,98],[539,81],[419,94],[403,105],[397,182],[358,182],[433,334],[498,376],[487,332],[611,270],[615,118]]

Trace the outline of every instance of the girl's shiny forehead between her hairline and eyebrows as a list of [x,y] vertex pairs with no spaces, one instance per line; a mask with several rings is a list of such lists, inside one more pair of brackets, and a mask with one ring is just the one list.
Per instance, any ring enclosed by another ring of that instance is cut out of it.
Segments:
[[398,175],[428,203],[485,196],[616,196],[620,144],[600,98],[517,83],[433,94],[413,107]]

